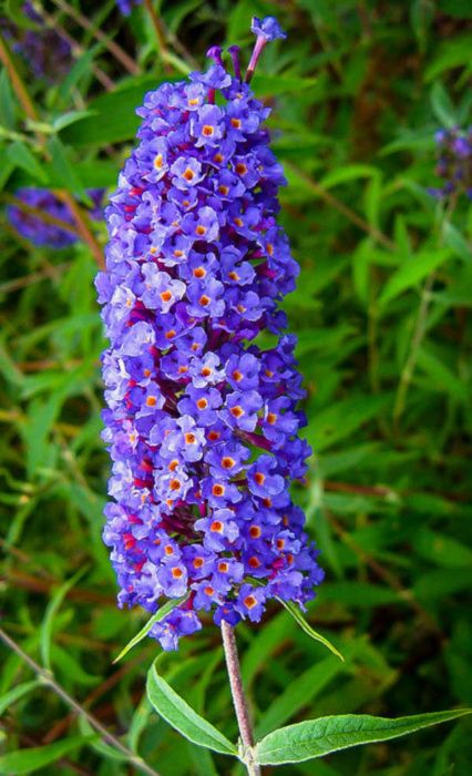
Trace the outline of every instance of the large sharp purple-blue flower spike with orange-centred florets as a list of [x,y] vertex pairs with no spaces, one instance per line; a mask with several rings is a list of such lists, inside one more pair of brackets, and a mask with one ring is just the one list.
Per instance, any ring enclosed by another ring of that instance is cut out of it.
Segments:
[[[253,29],[259,51],[283,34],[271,18]],[[202,626],[199,612],[258,621],[275,596],[302,605],[322,578],[289,492],[310,450],[279,309],[298,273],[276,222],[285,180],[236,49],[234,76],[209,54],[207,72],[138,109],[98,277],[115,500],[104,540],[122,606],[187,596],[151,631],[165,650]],[[274,347],[259,347],[261,331]]]

